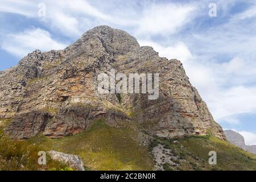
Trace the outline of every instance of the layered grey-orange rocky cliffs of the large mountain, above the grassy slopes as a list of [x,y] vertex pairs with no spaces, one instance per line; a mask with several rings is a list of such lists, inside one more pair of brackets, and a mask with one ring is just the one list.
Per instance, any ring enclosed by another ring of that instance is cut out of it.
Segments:
[[[159,73],[159,97],[99,94],[97,76]],[[27,139],[59,138],[85,130],[97,118],[122,127],[133,123],[159,137],[206,135],[225,139],[178,60],[159,57],[121,30],[100,26],[61,51],[34,51],[0,74],[0,118],[13,121],[5,133]]]

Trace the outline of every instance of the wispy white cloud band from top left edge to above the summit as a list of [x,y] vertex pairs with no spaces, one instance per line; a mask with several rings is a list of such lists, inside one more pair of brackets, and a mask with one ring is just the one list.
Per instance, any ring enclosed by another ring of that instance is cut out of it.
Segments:
[[[42,2],[46,5],[46,16],[39,17],[38,11],[40,8],[38,5]],[[82,0],[76,2],[69,0],[33,2],[27,0],[0,0],[0,3],[0,11],[36,18],[44,22],[48,28],[71,38],[78,38],[88,28],[96,26],[98,22],[113,21],[109,14],[102,13],[96,7],[90,5],[89,2]],[[88,27],[88,25],[90,26]]]

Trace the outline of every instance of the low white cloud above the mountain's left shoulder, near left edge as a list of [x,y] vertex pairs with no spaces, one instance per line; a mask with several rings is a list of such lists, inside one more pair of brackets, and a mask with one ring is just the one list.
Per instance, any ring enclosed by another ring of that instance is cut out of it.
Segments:
[[24,31],[19,34],[9,34],[3,40],[2,49],[18,57],[26,56],[35,49],[50,51],[51,49],[63,49],[65,44],[51,38],[49,32],[40,28]]

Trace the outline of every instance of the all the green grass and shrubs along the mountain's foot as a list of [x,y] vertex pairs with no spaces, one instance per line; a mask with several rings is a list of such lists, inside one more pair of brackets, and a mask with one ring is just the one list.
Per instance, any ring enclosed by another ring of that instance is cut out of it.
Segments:
[[[10,119],[1,120],[9,123]],[[138,132],[131,127],[111,127],[104,119],[92,122],[82,133],[59,139],[42,134],[28,140],[14,141],[3,136],[0,126],[1,170],[63,170],[70,171],[65,164],[47,156],[47,165],[38,164],[38,152],[56,150],[79,155],[86,170],[151,170],[154,160],[150,151],[158,144],[163,153],[171,150],[177,165],[163,164],[170,170],[256,170],[256,155],[232,144],[212,137],[185,137],[164,139],[154,136],[149,147],[141,145]],[[209,151],[217,152],[217,165],[209,165]]]

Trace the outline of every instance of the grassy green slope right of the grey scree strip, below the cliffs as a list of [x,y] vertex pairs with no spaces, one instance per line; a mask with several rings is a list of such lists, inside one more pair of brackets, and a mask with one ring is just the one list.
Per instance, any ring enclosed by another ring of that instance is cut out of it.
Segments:
[[[174,141],[177,142],[174,142]],[[187,137],[183,139],[158,139],[155,142],[171,148],[179,156],[179,170],[256,170],[256,155],[215,137]],[[209,165],[209,151],[216,151],[217,165]]]

